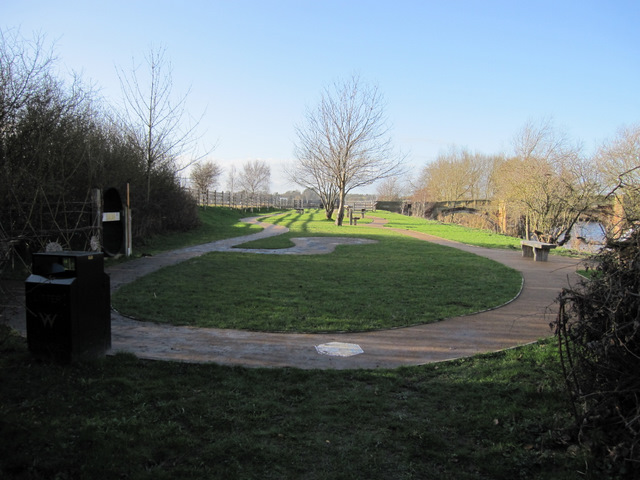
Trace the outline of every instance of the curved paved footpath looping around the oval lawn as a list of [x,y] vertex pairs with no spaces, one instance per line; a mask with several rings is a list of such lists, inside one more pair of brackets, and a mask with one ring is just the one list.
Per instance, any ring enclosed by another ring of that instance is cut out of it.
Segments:
[[[257,223],[255,218],[245,221]],[[383,223],[383,220],[375,219],[372,224],[354,228],[382,227]],[[285,227],[272,224],[265,223],[262,226],[264,230],[253,235],[188,247],[110,267],[107,273],[111,277],[112,292],[159,268],[211,251],[243,251],[233,246],[288,231]],[[578,280],[575,270],[579,260],[576,259],[550,255],[548,262],[534,262],[524,259],[517,251],[473,247],[422,233],[394,230],[488,257],[512,267],[522,273],[523,289],[514,301],[494,310],[427,325],[365,333],[277,334],[175,327],[139,322],[112,312],[112,352],[130,352],[147,359],[215,362],[247,367],[357,369],[420,365],[502,350],[548,337],[552,333],[549,324],[557,312],[555,299],[558,293]],[[291,249],[247,251],[319,254],[328,253],[341,243],[367,242],[363,239],[335,237],[326,237],[326,240],[329,245],[319,238],[309,238],[296,241],[296,246]],[[24,318],[23,313],[23,327]],[[18,329],[23,330],[20,325]]]

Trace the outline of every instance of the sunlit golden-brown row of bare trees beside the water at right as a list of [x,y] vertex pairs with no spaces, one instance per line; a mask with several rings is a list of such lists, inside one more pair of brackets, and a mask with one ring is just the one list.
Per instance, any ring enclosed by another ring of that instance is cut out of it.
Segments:
[[[453,221],[560,245],[572,239],[572,228],[585,214],[603,205],[609,211],[600,221],[608,234],[635,228],[640,220],[640,125],[621,128],[591,156],[549,118],[528,121],[512,145],[508,155],[452,147],[422,168],[404,198],[421,216],[434,202],[490,201],[484,219],[459,215]],[[387,196],[393,191],[387,184],[379,189]]]

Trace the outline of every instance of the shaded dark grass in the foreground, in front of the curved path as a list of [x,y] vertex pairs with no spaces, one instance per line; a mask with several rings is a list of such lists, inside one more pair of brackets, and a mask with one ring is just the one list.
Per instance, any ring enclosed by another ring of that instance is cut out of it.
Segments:
[[585,468],[567,444],[546,342],[373,371],[122,354],[58,366],[34,361],[25,343],[0,330],[5,479],[558,480]]

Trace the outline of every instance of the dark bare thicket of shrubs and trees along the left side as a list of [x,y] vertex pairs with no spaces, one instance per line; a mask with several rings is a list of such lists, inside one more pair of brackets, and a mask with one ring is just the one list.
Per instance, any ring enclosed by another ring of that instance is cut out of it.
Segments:
[[[0,245],[15,242],[38,251],[55,241],[88,250],[94,187],[114,186],[123,201],[130,199],[136,244],[195,227],[195,202],[180,184],[176,162],[187,153],[181,148],[185,138],[176,142],[176,135],[184,135],[176,131],[180,119],[156,116],[181,111],[164,107],[170,78],[159,80],[164,88],[154,98],[157,111],[143,115],[152,124],[140,129],[93,85],[62,74],[66,69],[46,43],[39,35],[31,40],[19,29],[0,29]],[[167,127],[159,125],[163,121]],[[132,131],[147,131],[155,141]],[[0,270],[7,258],[0,248]]]

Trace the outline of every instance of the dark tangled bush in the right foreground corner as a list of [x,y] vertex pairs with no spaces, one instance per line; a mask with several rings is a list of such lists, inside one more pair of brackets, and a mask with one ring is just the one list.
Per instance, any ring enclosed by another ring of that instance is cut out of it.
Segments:
[[581,443],[640,478],[640,233],[609,242],[597,273],[559,297],[557,335]]

